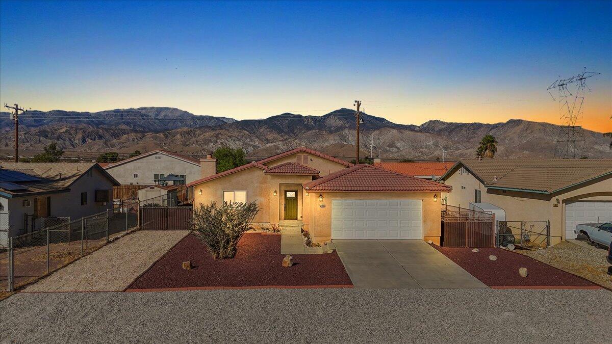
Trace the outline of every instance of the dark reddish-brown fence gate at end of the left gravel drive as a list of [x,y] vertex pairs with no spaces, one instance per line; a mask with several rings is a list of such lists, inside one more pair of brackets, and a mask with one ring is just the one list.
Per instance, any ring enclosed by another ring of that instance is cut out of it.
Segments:
[[147,231],[191,230],[192,207],[140,207],[140,229]]

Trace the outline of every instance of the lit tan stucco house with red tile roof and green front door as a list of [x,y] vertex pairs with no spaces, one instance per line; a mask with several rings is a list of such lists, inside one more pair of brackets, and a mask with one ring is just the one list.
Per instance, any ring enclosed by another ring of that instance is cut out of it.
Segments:
[[194,206],[256,201],[255,223],[297,220],[313,240],[425,239],[439,243],[450,187],[296,148],[188,185]]

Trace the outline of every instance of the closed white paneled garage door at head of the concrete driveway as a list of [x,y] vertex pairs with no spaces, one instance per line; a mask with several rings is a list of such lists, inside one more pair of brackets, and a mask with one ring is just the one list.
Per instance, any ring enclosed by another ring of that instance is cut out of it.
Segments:
[[423,239],[420,200],[332,200],[332,239]]

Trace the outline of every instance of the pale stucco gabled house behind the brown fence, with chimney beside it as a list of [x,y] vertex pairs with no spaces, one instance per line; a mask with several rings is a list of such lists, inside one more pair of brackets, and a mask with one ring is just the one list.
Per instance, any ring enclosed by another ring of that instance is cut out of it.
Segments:
[[206,159],[195,159],[169,151],[152,151],[135,157],[110,163],[104,169],[122,185],[141,184],[154,185],[165,181],[170,174],[177,180],[168,182],[169,185],[184,185],[200,179],[201,164],[207,170],[216,172],[217,161],[210,155]]

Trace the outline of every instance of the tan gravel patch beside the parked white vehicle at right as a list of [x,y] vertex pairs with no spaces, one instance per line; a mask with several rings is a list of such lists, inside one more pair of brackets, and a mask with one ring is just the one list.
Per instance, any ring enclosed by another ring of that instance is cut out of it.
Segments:
[[516,252],[612,289],[612,276],[606,273],[610,264],[597,250],[563,241],[548,249]]

